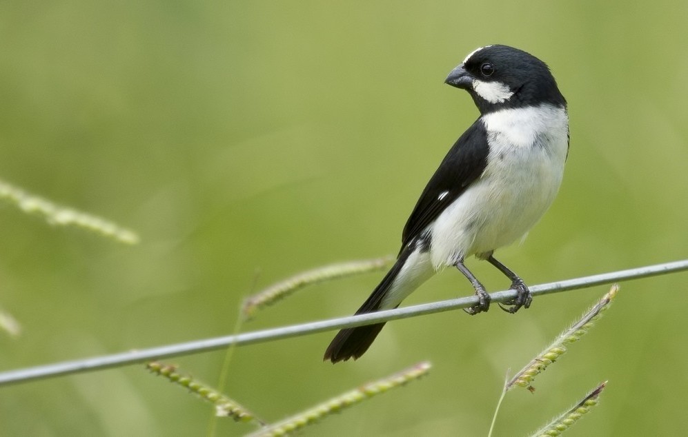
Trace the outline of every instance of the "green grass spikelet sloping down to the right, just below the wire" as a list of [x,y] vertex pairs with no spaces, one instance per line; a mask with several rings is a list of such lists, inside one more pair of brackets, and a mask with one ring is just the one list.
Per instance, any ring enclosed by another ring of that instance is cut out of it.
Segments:
[[224,394],[217,392],[217,390],[212,387],[199,383],[190,376],[179,374],[179,372],[177,372],[177,367],[173,365],[166,365],[153,361],[146,364],[146,368],[150,370],[150,372],[159,376],[164,376],[181,387],[186,387],[190,392],[197,394],[202,399],[215,405],[215,415],[218,417],[231,417],[237,422],[256,420],[258,423],[262,424],[262,420],[256,418],[255,414],[248,411],[248,409],[242,407],[227,396],[224,396]]

